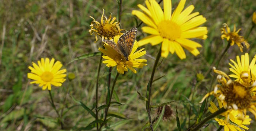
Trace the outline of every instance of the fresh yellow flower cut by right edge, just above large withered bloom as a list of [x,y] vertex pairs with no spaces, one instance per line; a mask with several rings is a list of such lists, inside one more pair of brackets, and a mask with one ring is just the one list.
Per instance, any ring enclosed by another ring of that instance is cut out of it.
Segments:
[[230,61],[234,64],[230,64],[229,70],[234,74],[229,75],[231,78],[236,78],[235,81],[239,81],[242,85],[249,87],[253,84],[256,80],[256,64],[255,58],[252,59],[251,63],[249,64],[249,55],[245,53],[245,55],[240,57],[237,56],[237,63],[230,59]]

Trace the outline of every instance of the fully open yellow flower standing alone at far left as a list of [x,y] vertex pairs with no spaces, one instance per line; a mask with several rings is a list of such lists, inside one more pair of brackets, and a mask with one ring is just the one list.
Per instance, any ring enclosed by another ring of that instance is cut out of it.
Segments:
[[[38,64],[38,65],[37,65]],[[54,59],[52,58],[41,58],[41,61],[37,61],[37,64],[32,63],[33,67],[29,66],[31,73],[27,74],[27,78],[34,80],[30,82],[30,84],[36,83],[39,84],[39,87],[42,87],[43,90],[48,88],[51,90],[51,85],[59,87],[65,82],[66,74],[64,74],[67,70],[60,70],[62,64],[60,61],[56,61],[54,63]]]

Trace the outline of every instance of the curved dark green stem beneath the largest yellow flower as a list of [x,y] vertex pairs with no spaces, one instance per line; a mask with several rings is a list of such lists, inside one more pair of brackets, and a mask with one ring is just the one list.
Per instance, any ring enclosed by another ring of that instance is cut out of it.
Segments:
[[153,79],[154,79],[154,75],[155,75],[155,70],[157,69],[157,64],[158,64],[158,61],[161,57],[161,46],[160,45],[160,48],[159,48],[159,51],[158,51],[158,54],[157,54],[157,57],[155,59],[155,63],[154,63],[154,67],[153,67],[153,70],[152,70],[152,73],[151,73],[151,77],[150,77],[150,80],[148,82],[148,88],[147,88],[147,103],[146,103],[146,108],[147,108],[147,113],[148,113],[148,120],[150,122],[150,128],[151,128],[151,131],[154,131],[153,129],[153,125],[152,125],[152,122],[151,122],[151,115],[150,115],[150,106],[151,106],[151,90],[152,90],[152,83],[153,83]]

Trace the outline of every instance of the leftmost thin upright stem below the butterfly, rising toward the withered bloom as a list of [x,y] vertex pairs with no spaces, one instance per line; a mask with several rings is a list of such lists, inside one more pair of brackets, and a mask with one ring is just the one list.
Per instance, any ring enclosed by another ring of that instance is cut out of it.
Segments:
[[[104,49],[105,47],[103,46],[104,44],[102,44],[102,48]],[[99,88],[99,72],[101,71],[101,63],[102,63],[102,56],[103,53],[101,53],[101,58],[99,59],[99,65],[98,65],[98,72],[97,72],[97,80],[96,80],[96,105],[95,105],[95,115],[96,115],[96,120],[98,120],[98,88]],[[98,131],[98,123],[97,123],[97,131]]]

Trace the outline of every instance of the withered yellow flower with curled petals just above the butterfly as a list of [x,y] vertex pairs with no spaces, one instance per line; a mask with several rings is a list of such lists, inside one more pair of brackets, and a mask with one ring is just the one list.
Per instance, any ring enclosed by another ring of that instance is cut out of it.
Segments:
[[111,20],[112,13],[110,13],[109,18],[107,18],[106,16],[103,16],[104,12],[105,10],[103,9],[101,23],[99,23],[92,16],[90,16],[93,19],[93,21],[91,21],[91,29],[89,30],[89,33],[90,35],[95,34],[96,41],[98,40],[97,35],[101,37],[102,41],[103,39],[113,40],[114,36],[123,35],[123,33],[120,32],[123,29],[120,29],[119,22],[115,21],[116,17],[113,17],[113,19]]

